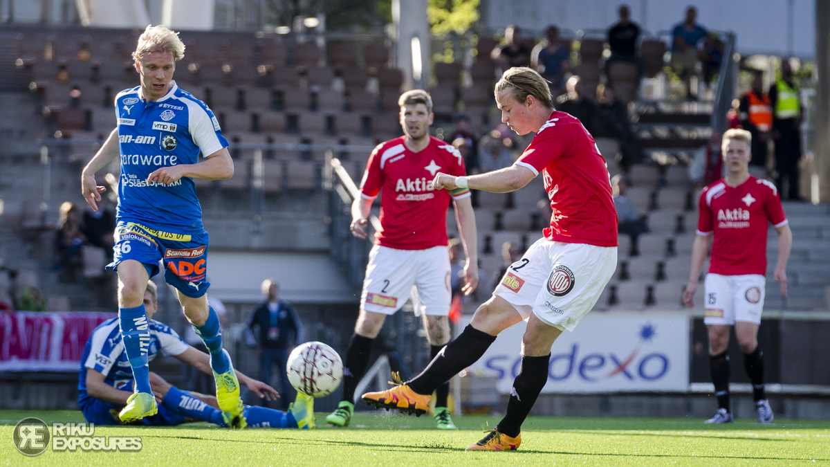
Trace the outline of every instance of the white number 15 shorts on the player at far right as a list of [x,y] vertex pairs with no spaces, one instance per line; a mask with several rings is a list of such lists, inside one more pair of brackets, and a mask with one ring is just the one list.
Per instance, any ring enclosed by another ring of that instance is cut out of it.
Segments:
[[703,322],[732,325],[736,321],[745,321],[760,324],[766,283],[767,278],[760,274],[706,274]]

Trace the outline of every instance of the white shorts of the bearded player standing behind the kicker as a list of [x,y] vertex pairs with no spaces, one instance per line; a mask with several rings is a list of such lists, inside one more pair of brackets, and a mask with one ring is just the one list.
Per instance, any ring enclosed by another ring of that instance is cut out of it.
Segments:
[[415,314],[450,312],[450,254],[447,247],[399,250],[374,245],[369,251],[360,308],[393,315],[412,297]]

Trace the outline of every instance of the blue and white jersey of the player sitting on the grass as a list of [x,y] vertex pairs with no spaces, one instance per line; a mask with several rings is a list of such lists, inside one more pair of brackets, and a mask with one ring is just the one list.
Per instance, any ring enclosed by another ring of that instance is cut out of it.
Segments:
[[[179,355],[188,350],[188,343],[166,324],[149,320],[150,347],[147,352],[149,361],[159,355]],[[113,387],[120,387],[133,379],[133,368],[129,365],[127,352],[124,350],[124,341],[121,338],[119,318],[114,317],[100,323],[99,327],[86,341],[84,354],[81,356],[81,374],[78,380],[79,399],[86,397],[86,371],[92,368],[100,371],[105,378],[104,382]]]

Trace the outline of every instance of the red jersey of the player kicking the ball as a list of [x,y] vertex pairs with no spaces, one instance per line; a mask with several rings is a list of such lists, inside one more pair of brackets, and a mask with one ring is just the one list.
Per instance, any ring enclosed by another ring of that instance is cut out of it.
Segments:
[[593,136],[574,116],[554,111],[516,165],[544,177],[550,227],[544,238],[554,242],[616,247],[617,210],[611,180]]

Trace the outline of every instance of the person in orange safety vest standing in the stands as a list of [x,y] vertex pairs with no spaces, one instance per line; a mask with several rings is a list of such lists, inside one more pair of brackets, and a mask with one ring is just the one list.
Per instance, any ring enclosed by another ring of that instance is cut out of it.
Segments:
[[[749,171],[752,175],[764,178],[767,164],[767,142],[769,131],[773,127],[773,108],[769,95],[764,92],[764,75],[755,72],[752,80],[752,89],[741,96],[738,104],[740,125],[752,135],[752,160],[749,160]],[[763,172],[759,174],[758,172]]]

